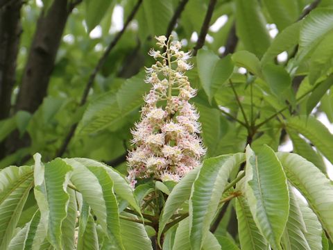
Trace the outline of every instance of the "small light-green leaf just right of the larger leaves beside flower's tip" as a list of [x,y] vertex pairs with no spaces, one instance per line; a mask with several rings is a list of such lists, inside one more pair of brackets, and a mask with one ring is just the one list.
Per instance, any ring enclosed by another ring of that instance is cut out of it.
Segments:
[[232,55],[232,61],[239,67],[248,69],[249,72],[256,76],[262,77],[262,69],[260,68],[260,62],[255,54],[248,51],[237,51]]

